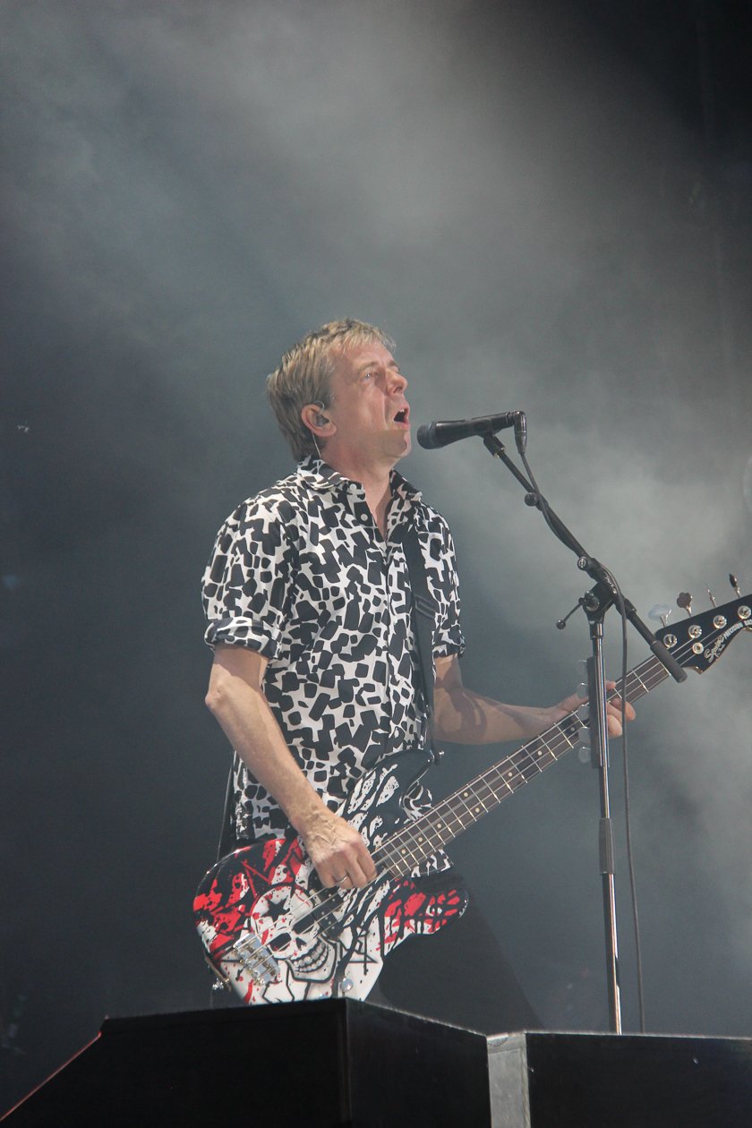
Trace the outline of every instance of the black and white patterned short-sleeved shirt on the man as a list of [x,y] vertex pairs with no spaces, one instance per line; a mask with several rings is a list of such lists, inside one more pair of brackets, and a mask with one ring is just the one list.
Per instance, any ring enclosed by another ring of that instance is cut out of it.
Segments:
[[[392,470],[387,540],[360,483],[318,458],[244,502],[220,529],[204,575],[206,642],[267,660],[264,691],[293,756],[337,810],[382,756],[423,740],[409,576],[415,522],[436,603],[434,658],[461,654],[449,527]],[[280,835],[284,813],[236,756],[239,838]],[[418,813],[425,794],[410,796]]]

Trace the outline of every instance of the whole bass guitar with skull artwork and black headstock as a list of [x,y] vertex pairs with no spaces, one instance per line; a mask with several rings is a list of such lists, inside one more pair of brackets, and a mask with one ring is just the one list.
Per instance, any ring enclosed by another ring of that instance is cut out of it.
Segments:
[[[656,637],[682,667],[704,673],[743,631],[752,632],[752,596],[664,627]],[[648,658],[627,675],[627,699],[637,700],[667,676],[657,658]],[[382,760],[339,811],[375,862],[377,876],[365,889],[322,888],[292,832],[228,854],[206,873],[193,906],[210,967],[247,1004],[365,998],[389,952],[465,910],[467,897],[450,875],[414,876],[421,863],[575,748],[583,724],[576,712],[568,714],[417,819],[405,814],[402,797],[427,759],[409,752]]]

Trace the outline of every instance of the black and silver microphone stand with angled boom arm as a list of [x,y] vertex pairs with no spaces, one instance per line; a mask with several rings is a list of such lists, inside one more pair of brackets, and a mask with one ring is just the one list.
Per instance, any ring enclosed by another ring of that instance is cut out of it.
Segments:
[[[516,435],[517,448],[524,455],[525,432],[522,429]],[[578,600],[577,606],[584,610],[590,624],[592,656],[587,660],[587,693],[590,707],[590,738],[592,763],[599,770],[601,819],[599,823],[600,872],[603,883],[603,915],[605,927],[605,970],[609,998],[610,1030],[620,1034],[621,1001],[619,993],[619,954],[617,937],[616,888],[613,873],[613,828],[611,825],[611,804],[609,800],[609,733],[607,725],[607,688],[603,666],[603,619],[608,609],[618,601],[623,606],[625,614],[635,629],[647,642],[652,652],[666,668],[676,681],[684,681],[687,672],[669,653],[663,643],[658,642],[653,632],[643,623],[635,607],[625,599],[611,575],[595,557],[585,552],[583,546],[567,529],[566,525],[550,508],[542,494],[520,473],[508,458],[503,442],[490,432],[483,435],[484,446],[511,470],[525,492],[525,504],[540,510],[546,523],[556,537],[570,548],[577,557],[577,567],[595,581],[594,587]],[[532,477],[532,474],[531,474]],[[576,608],[575,608],[576,610]],[[570,611],[569,615],[573,613]],[[567,616],[568,618],[568,616]],[[564,626],[564,620],[559,622]]]

